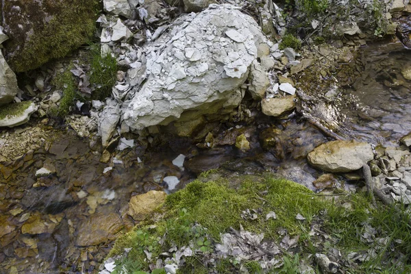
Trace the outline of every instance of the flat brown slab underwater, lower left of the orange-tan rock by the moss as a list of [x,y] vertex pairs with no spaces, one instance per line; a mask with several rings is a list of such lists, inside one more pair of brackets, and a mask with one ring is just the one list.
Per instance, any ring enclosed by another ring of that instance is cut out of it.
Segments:
[[75,244],[82,247],[99,245],[116,238],[116,234],[121,229],[123,229],[123,221],[118,214],[92,214],[79,225]]

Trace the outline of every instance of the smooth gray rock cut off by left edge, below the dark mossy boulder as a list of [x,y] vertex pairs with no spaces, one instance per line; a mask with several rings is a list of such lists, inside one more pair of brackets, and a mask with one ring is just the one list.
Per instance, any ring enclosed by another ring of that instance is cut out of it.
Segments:
[[0,105],[10,103],[18,92],[16,75],[5,62],[0,50]]

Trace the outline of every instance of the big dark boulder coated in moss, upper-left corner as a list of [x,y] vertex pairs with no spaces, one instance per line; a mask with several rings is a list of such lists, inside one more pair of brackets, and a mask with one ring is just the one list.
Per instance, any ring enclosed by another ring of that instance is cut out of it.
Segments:
[[90,40],[97,0],[5,1],[5,59],[15,72],[36,69],[62,58]]

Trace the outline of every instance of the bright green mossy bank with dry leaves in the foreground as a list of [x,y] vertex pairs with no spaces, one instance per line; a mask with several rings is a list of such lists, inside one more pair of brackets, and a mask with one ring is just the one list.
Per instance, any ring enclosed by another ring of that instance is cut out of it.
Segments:
[[[250,210],[256,215],[247,217],[245,212]],[[266,219],[270,212],[275,212],[276,219]],[[321,196],[272,175],[227,179],[212,172],[169,195],[158,214],[160,221],[140,223],[116,241],[109,257],[132,249],[116,262],[114,273],[150,273],[149,265],[162,258],[160,254],[180,247],[190,247],[195,253],[184,258],[177,273],[239,273],[241,268],[249,273],[299,273],[301,262],[308,262],[318,272],[314,254],[332,248],[345,258],[349,253],[364,255],[372,250],[372,256],[360,256],[365,260],[341,266],[350,273],[411,270],[409,215],[383,205],[371,206],[361,194],[340,191]],[[305,219],[297,219],[297,214]],[[212,254],[221,234],[233,229],[263,233],[264,241],[277,243],[284,241],[286,232],[290,238],[298,238],[298,244],[292,250],[281,249],[282,264],[276,269],[263,271],[256,260],[216,259]],[[214,258],[212,264],[210,258]],[[152,273],[164,273],[161,271]]]

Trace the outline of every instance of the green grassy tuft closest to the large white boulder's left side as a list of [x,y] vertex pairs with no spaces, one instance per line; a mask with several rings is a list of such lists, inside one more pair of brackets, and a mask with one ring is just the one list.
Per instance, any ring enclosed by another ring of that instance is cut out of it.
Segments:
[[109,52],[101,52],[100,45],[90,45],[90,83],[95,85],[92,99],[109,97],[116,84],[117,60]]

